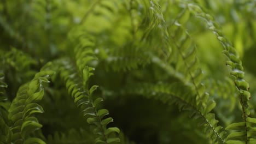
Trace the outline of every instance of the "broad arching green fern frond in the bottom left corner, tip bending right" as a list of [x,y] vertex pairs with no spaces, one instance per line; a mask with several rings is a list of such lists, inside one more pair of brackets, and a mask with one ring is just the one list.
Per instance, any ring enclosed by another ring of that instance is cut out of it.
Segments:
[[39,130],[42,125],[38,123],[34,113],[43,113],[43,107],[38,102],[43,98],[44,85],[49,83],[48,78],[54,71],[42,70],[37,73],[34,79],[22,85],[12,101],[8,118],[12,126],[10,130],[13,133],[12,142],[14,143],[44,143],[42,134],[40,138],[31,137],[31,133]]

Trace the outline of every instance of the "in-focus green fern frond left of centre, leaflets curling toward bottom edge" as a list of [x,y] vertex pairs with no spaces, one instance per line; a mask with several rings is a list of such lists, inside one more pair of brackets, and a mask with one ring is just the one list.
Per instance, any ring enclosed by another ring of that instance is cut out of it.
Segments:
[[[84,116],[89,115],[87,122],[96,125],[96,128],[93,130],[94,134],[97,135],[95,143],[113,143],[120,141],[120,139],[111,135],[114,132],[119,133],[120,130],[117,127],[107,128],[107,124],[113,122],[113,118],[111,117],[103,119],[109,113],[107,109],[97,110],[98,104],[103,99],[97,98],[94,100],[92,93],[98,86],[94,85],[90,89],[88,88],[88,80],[93,75],[92,70],[94,70],[94,68],[88,67],[88,64],[97,59],[94,51],[92,51],[95,46],[94,39],[89,36],[86,38],[82,37],[83,43],[78,44],[74,48],[76,62],[74,69],[70,70],[72,67],[70,62],[63,64],[66,66],[62,68],[60,75],[66,82],[68,92],[74,98],[75,104],[82,110]],[[78,73],[75,68],[78,69]]]

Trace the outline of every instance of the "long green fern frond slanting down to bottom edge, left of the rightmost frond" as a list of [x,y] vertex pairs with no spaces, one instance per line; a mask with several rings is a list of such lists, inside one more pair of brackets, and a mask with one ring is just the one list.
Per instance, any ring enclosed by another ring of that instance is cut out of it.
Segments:
[[224,143],[224,132],[221,133],[222,131],[220,131],[222,127],[217,125],[218,121],[214,118],[214,114],[209,113],[215,107],[216,103],[209,99],[205,86],[202,84],[202,71],[196,57],[195,45],[191,41],[188,32],[182,26],[184,22],[187,22],[188,17],[187,13],[181,13],[177,20],[174,21],[174,25],[170,26],[174,33],[171,35],[172,53],[169,62],[175,64],[175,70],[184,76],[183,81],[186,80],[188,84],[193,85],[196,95],[196,104],[194,107],[201,113],[201,117],[204,118],[206,129],[208,128],[207,131],[210,131],[210,137],[213,138],[213,141]]

